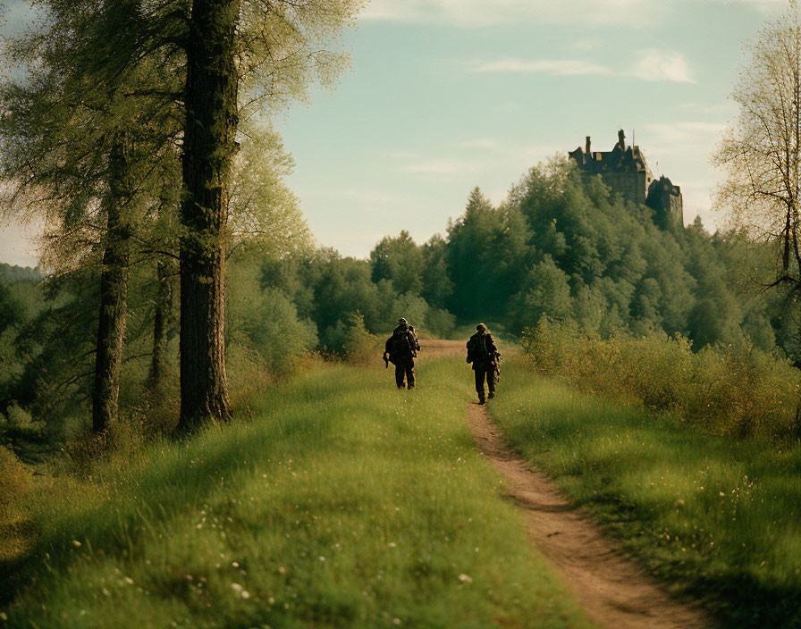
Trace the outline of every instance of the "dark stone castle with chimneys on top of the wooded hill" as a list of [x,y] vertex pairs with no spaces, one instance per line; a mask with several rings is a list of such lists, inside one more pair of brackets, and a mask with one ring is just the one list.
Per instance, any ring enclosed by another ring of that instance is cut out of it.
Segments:
[[618,143],[611,151],[593,152],[587,136],[586,147],[578,147],[569,155],[582,171],[601,175],[603,183],[620,197],[653,209],[656,224],[663,228],[684,227],[681,189],[664,175],[653,179],[640,147],[626,146],[623,130],[618,131]]

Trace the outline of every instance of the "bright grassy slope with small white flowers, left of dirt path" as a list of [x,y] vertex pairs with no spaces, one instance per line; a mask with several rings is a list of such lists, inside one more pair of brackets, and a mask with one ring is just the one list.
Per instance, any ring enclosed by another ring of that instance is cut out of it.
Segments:
[[457,365],[412,392],[317,369],[249,421],[60,481],[6,625],[587,626],[473,447]]

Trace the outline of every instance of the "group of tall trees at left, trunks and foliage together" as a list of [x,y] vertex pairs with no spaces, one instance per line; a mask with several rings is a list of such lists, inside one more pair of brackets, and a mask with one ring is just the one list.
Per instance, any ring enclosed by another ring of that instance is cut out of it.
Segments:
[[58,376],[91,362],[97,435],[120,419],[148,326],[147,388],[164,397],[173,291],[178,427],[230,417],[227,262],[246,242],[282,254],[306,238],[282,185],[291,160],[266,121],[311,82],[333,83],[341,29],[363,5],[46,0],[4,40],[0,206],[46,225],[42,268],[63,301],[38,315],[20,359],[38,365],[37,390],[57,382],[64,395],[87,379]]

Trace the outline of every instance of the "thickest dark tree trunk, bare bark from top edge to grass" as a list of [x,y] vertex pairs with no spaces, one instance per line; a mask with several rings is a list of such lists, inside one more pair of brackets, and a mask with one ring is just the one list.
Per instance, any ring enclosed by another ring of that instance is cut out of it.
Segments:
[[230,415],[225,375],[227,185],[236,150],[234,38],[240,0],[193,0],[181,199],[181,419]]

